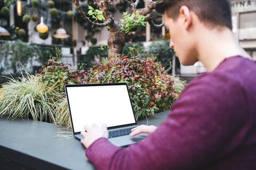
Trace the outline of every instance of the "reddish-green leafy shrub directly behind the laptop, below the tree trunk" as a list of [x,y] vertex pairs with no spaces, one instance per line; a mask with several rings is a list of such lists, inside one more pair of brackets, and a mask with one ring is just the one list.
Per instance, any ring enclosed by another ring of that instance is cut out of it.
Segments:
[[118,57],[88,72],[90,83],[126,82],[138,117],[171,108],[178,96],[173,80],[153,58]]

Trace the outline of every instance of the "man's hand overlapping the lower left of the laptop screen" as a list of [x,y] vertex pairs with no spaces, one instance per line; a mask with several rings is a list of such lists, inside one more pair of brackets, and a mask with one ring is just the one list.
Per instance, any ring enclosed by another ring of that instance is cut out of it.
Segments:
[[86,132],[81,132],[81,135],[84,137],[84,139],[81,139],[81,143],[83,143],[85,148],[88,148],[95,140],[99,138],[108,138],[108,129],[106,124],[102,124],[102,128],[99,128],[99,126],[95,124],[92,125],[92,128],[85,125],[84,129]]

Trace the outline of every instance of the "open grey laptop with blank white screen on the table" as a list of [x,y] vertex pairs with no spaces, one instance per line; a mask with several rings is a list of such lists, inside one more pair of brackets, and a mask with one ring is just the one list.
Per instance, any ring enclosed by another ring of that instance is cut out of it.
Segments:
[[126,83],[66,84],[69,115],[73,134],[80,134],[84,125],[103,123],[109,131],[109,141],[121,147],[137,143],[147,134],[130,137],[131,129],[137,126],[131,97]]

